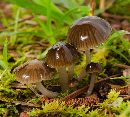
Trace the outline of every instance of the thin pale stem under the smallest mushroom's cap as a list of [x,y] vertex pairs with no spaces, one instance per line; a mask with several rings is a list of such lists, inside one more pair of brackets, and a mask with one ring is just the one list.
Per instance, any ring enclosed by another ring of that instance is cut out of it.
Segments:
[[90,95],[92,93],[95,81],[96,81],[96,73],[92,73],[87,95]]

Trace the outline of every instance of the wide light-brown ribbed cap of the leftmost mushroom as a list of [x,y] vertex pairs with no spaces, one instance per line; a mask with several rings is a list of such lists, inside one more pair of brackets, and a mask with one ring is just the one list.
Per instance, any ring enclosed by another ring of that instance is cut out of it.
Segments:
[[49,80],[51,73],[54,70],[46,66],[46,63],[37,59],[31,60],[17,68],[16,73],[17,81],[23,84],[31,84],[41,82],[42,80]]

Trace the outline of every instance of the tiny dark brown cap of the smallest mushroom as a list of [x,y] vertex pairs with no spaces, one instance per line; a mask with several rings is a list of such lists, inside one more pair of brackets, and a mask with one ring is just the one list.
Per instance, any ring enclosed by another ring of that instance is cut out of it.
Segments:
[[99,73],[101,71],[102,71],[102,67],[98,63],[91,62],[86,66],[87,73]]

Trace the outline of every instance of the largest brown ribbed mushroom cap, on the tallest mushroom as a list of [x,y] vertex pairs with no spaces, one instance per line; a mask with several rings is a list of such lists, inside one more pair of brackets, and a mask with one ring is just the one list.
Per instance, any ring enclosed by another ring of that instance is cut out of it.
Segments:
[[68,42],[81,51],[103,43],[111,34],[111,26],[97,16],[86,16],[77,21],[68,31]]

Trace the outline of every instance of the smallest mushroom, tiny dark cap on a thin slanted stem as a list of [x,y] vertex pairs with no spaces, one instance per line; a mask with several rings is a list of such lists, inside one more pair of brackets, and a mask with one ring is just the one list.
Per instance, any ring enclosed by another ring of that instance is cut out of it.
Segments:
[[91,80],[87,91],[87,95],[90,95],[94,88],[94,83],[98,73],[102,71],[102,67],[98,63],[91,62],[86,66],[86,73],[90,74]]

